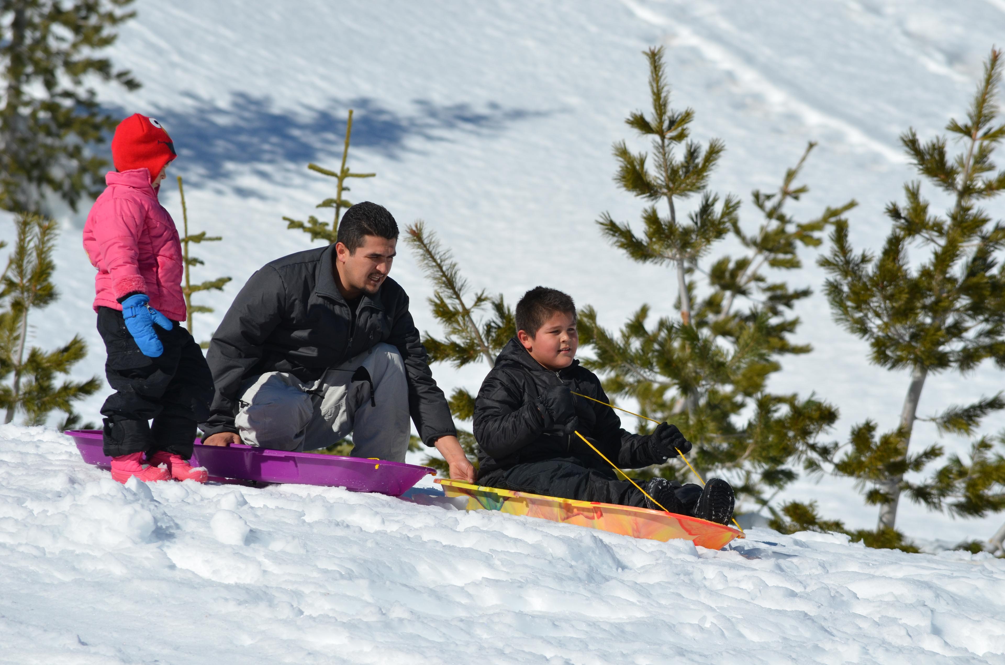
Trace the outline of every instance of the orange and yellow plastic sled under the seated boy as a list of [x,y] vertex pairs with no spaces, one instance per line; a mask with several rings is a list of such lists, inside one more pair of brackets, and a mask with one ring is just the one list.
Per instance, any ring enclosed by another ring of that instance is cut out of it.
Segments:
[[465,510],[498,510],[662,542],[691,540],[710,549],[722,549],[733,538],[744,537],[743,531],[732,526],[660,510],[514,492],[444,478],[435,482],[443,486],[447,497],[466,496]]

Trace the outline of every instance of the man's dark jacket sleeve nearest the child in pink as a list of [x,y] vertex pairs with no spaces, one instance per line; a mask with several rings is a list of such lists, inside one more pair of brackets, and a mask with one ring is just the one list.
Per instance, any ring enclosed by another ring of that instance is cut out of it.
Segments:
[[237,432],[234,408],[241,384],[261,361],[264,343],[282,318],[285,289],[275,268],[264,266],[251,275],[213,334],[206,362],[213,372],[215,393],[203,436]]

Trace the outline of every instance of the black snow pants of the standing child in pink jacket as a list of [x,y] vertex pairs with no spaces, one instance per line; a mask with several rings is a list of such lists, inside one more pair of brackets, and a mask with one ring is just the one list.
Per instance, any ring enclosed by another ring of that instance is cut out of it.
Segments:
[[188,459],[197,423],[209,415],[213,375],[202,349],[177,321],[170,330],[154,329],[164,353],[148,358],[126,328],[123,312],[97,308],[97,331],[109,355],[105,375],[116,391],[102,407],[106,455],[166,450]]

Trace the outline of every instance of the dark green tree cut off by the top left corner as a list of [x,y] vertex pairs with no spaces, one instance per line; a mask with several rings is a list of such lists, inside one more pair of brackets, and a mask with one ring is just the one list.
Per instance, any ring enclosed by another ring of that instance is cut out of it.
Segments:
[[133,0],[8,0],[0,5],[0,208],[41,212],[51,193],[76,209],[104,188],[108,163],[88,147],[116,119],[102,110],[92,80],[140,86],[98,52],[132,18]]

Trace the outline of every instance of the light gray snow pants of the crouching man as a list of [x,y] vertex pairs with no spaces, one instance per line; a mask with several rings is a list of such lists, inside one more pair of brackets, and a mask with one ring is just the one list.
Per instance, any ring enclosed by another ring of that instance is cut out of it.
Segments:
[[405,461],[411,431],[405,364],[378,344],[312,384],[284,372],[248,383],[234,424],[241,440],[274,450],[315,450],[353,435],[354,457]]

